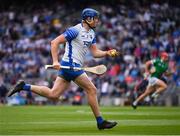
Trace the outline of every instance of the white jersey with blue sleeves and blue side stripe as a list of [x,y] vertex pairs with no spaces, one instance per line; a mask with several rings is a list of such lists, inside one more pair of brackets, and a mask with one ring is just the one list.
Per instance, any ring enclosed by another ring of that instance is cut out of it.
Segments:
[[83,65],[88,48],[96,43],[94,30],[87,31],[82,24],[70,27],[64,33],[67,40],[63,61]]

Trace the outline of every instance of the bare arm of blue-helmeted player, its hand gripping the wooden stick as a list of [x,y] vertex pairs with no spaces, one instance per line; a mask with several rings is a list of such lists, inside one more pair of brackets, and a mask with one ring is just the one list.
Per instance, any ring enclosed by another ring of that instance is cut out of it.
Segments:
[[54,40],[51,41],[51,55],[52,55],[52,59],[53,59],[53,65],[55,69],[59,69],[60,68],[60,64],[58,61],[58,47],[59,44],[65,43],[66,42],[66,38],[63,34],[61,34],[60,36],[56,37]]

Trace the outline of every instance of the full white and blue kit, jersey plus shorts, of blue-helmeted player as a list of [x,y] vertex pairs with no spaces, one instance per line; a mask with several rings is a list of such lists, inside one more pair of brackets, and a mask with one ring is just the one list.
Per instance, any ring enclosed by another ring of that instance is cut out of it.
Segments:
[[[82,67],[88,48],[96,43],[94,30],[90,29],[87,31],[82,24],[78,24],[68,28],[63,35],[67,42],[61,65]],[[70,82],[82,73],[84,73],[83,70],[74,71],[72,69],[61,69],[59,76]]]

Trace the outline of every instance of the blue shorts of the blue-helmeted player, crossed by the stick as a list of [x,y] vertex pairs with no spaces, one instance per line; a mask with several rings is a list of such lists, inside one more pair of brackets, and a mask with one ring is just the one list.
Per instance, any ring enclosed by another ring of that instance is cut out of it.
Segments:
[[[81,67],[80,64],[77,63],[69,63],[66,61],[61,61],[62,66],[70,66],[70,67]],[[66,81],[70,82],[71,80],[75,80],[78,76],[84,73],[84,70],[73,70],[73,69],[60,69],[58,72],[58,76],[62,77]]]

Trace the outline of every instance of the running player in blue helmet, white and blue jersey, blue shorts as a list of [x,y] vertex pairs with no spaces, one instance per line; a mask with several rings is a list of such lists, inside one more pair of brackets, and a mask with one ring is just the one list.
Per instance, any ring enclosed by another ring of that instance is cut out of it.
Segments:
[[[115,49],[102,51],[97,48],[93,28],[97,26],[98,22],[99,12],[91,8],[86,8],[82,11],[82,22],[80,24],[68,28],[63,34],[52,40],[51,54],[55,69],[60,69],[60,65],[81,67],[87,50],[90,50],[95,58],[116,56],[117,52]],[[66,48],[65,54],[59,63],[58,46],[62,43],[66,43]],[[21,90],[25,90],[32,91],[52,100],[58,100],[60,95],[62,95],[70,85],[70,81],[74,81],[86,91],[88,103],[96,118],[98,129],[109,129],[116,126],[117,122],[106,121],[102,118],[97,101],[97,88],[89,80],[83,70],[74,71],[72,69],[60,69],[59,76],[57,76],[53,88],[30,85],[24,81],[20,81],[15,88],[10,91],[8,96],[20,92]]]

